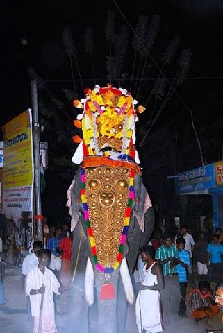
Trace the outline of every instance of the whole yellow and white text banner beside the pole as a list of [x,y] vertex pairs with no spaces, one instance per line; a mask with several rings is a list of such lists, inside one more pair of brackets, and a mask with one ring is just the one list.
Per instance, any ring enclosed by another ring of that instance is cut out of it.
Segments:
[[31,110],[3,126],[3,214],[20,224],[33,214]]

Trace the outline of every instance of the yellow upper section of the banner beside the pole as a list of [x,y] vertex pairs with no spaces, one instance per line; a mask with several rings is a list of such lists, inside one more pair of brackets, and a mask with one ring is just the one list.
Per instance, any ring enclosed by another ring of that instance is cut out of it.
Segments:
[[3,126],[3,189],[33,183],[31,111]]

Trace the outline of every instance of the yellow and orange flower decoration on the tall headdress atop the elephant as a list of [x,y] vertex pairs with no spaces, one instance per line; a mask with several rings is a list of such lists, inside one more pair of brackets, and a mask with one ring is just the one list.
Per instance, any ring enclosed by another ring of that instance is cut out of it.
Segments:
[[[115,94],[115,95],[114,95]],[[113,103],[118,98],[117,105]],[[118,97],[117,97],[118,96]],[[98,155],[97,138],[123,139],[122,153],[133,155],[129,139],[135,128],[135,110],[133,97],[125,89],[100,88],[96,86],[85,99],[85,112],[83,114],[82,130],[85,144],[88,146],[88,156]],[[122,126],[122,130],[115,130],[115,126]],[[108,156],[113,153],[107,154]]]

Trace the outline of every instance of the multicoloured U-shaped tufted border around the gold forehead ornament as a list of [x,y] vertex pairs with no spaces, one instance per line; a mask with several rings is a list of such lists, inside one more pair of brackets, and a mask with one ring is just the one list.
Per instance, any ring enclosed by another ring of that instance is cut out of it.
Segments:
[[94,264],[96,268],[101,271],[101,273],[113,273],[119,266],[120,262],[122,262],[122,256],[124,251],[124,245],[126,244],[126,238],[128,234],[128,228],[129,228],[129,222],[130,222],[130,216],[131,216],[131,210],[135,198],[135,191],[134,191],[134,177],[135,177],[135,170],[131,169],[130,171],[130,180],[129,180],[129,202],[126,207],[126,212],[124,215],[124,226],[122,230],[122,235],[120,237],[120,243],[119,243],[119,253],[117,255],[117,259],[113,267],[106,267],[104,268],[99,264],[97,259],[97,246],[94,241],[94,233],[92,230],[92,227],[90,225],[90,219],[89,219],[89,212],[88,212],[88,203],[85,196],[85,185],[86,185],[86,178],[85,178],[85,169],[81,168],[81,200],[83,203],[83,209],[84,209],[84,217],[85,217],[85,224],[88,231],[88,238],[90,241],[90,247],[92,252],[92,258],[94,261]]

